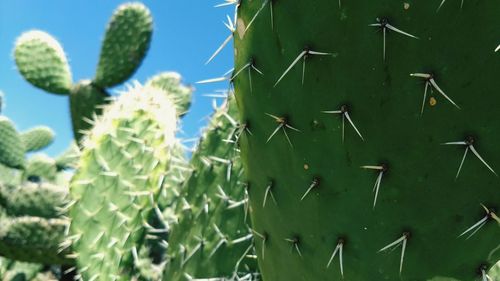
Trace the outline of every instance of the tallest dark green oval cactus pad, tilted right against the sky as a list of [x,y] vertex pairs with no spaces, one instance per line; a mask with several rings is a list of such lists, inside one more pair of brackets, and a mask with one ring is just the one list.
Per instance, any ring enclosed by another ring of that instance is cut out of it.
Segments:
[[152,33],[153,19],[143,4],[118,7],[106,29],[95,84],[112,87],[130,78],[149,49]]

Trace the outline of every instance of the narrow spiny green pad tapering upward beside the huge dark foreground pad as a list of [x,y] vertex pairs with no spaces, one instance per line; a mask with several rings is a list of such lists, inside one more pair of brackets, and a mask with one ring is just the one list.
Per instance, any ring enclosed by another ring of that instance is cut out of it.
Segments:
[[[234,99],[210,121],[177,199],[163,280],[255,280]],[[215,280],[215,279],[214,279]]]

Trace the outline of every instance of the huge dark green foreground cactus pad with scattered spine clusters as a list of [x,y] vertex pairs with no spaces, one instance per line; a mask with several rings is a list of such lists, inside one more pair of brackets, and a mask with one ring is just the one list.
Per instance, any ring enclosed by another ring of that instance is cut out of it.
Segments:
[[500,4],[235,2],[230,80],[251,125],[240,140],[263,278],[487,280]]

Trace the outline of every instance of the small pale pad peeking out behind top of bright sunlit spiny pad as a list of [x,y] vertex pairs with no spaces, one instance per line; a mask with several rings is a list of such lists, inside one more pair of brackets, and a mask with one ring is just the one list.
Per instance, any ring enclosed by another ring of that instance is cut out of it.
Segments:
[[162,72],[151,77],[146,85],[159,88],[173,100],[179,116],[185,115],[191,106],[194,89],[182,84],[182,77],[177,72]]

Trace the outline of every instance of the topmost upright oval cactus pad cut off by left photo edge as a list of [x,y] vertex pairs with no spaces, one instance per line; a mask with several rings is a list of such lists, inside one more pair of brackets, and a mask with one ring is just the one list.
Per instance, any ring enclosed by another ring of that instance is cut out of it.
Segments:
[[24,165],[24,146],[10,119],[0,116],[0,163],[10,168]]

